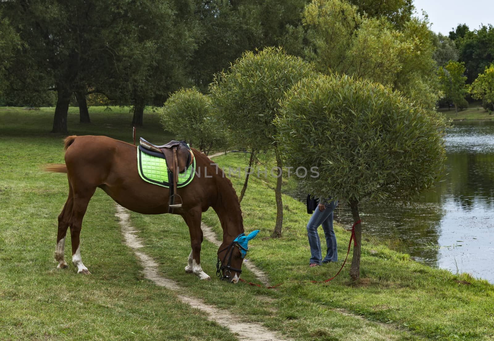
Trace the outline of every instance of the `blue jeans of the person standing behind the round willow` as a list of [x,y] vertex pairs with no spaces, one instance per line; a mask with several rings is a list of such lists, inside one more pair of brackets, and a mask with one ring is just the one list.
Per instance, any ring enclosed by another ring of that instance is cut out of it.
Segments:
[[319,226],[323,226],[323,231],[326,236],[326,257],[322,260],[324,263],[336,262],[338,260],[338,253],[336,251],[336,236],[333,231],[333,211],[338,200],[326,203],[326,208],[321,212],[319,207],[316,208],[309,223],[307,224],[307,236],[309,237],[309,246],[311,258],[309,264],[316,263],[321,265],[321,241],[319,240],[319,234],[317,229]]

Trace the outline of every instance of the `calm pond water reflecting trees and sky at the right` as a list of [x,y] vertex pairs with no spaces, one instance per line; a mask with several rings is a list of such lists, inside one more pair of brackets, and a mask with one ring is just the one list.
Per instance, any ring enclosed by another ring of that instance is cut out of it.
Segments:
[[[448,128],[447,175],[412,206],[361,203],[366,234],[389,241],[418,262],[494,283],[494,121]],[[306,194],[288,193],[302,202]],[[353,224],[348,207],[337,219]]]

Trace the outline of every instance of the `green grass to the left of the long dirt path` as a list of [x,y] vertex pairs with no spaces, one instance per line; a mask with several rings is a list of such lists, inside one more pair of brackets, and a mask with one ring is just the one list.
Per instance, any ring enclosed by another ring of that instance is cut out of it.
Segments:
[[[78,275],[73,266],[56,269],[57,216],[68,187],[65,175],[40,169],[63,162],[60,136],[47,133],[51,115],[44,109],[0,109],[0,340],[235,339],[174,292],[143,278],[123,244],[115,204],[99,189],[84,217],[81,243],[82,259],[93,274]],[[131,137],[129,114],[95,110],[92,118],[91,127],[82,127],[71,114],[71,133]],[[153,115],[146,115],[146,123],[153,129],[141,129],[143,136],[169,140],[159,134]]]

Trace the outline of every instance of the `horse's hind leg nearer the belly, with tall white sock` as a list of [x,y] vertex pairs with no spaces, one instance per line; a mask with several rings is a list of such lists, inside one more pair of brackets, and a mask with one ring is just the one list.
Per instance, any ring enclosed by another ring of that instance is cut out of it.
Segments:
[[74,192],[74,205],[72,217],[70,219],[70,239],[72,241],[72,263],[77,267],[77,273],[90,274],[87,267],[82,264],[80,250],[80,234],[82,228],[82,218],[86,213],[87,204],[91,199],[96,187]]

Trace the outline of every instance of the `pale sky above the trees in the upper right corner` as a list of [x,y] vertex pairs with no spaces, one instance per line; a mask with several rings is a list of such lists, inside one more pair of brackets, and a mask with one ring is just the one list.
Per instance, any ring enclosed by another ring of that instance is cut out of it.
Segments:
[[448,36],[458,24],[466,24],[470,31],[480,25],[494,26],[493,0],[413,0],[413,4],[422,17],[420,9],[429,15],[431,30]]

